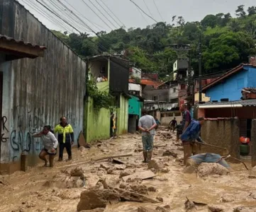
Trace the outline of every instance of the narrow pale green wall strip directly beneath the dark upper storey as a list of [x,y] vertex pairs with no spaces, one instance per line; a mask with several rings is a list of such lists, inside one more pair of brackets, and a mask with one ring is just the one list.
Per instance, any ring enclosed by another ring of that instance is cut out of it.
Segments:
[[117,134],[126,134],[128,132],[128,99],[120,96],[120,108],[117,113]]

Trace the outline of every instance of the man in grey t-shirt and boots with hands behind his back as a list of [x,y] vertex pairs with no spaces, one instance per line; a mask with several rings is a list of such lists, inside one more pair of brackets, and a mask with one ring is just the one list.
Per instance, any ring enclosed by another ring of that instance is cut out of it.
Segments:
[[157,123],[155,122],[154,117],[148,115],[147,110],[142,110],[141,114],[142,117],[139,119],[138,127],[142,131],[143,163],[147,163],[152,157],[155,127],[157,126]]

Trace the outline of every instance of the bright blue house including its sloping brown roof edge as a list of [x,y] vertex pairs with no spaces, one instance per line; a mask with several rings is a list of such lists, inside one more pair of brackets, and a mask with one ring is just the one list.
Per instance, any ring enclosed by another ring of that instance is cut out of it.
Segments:
[[211,102],[220,102],[221,99],[235,101],[241,99],[241,90],[243,88],[255,87],[256,67],[241,64],[204,86],[202,92],[211,99]]

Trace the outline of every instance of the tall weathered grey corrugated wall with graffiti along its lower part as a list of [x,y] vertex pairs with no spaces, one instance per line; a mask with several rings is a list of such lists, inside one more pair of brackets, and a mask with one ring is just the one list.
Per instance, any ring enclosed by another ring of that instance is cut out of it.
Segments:
[[[0,34],[45,45],[45,57],[1,64],[4,72],[1,163],[19,160],[21,153],[38,155],[40,139],[31,136],[61,116],[82,131],[86,64],[17,1],[0,1]],[[28,161],[33,163],[34,161]]]

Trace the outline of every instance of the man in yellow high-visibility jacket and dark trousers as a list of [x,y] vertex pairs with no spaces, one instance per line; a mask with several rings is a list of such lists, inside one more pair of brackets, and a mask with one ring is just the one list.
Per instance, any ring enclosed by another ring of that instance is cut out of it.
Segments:
[[60,124],[55,126],[54,130],[55,134],[57,133],[57,139],[60,143],[60,153],[59,153],[59,161],[63,160],[63,151],[66,148],[67,155],[69,155],[68,160],[72,159],[72,151],[71,147],[74,143],[74,131],[72,126],[67,123],[66,117],[60,118]]

